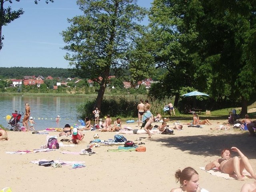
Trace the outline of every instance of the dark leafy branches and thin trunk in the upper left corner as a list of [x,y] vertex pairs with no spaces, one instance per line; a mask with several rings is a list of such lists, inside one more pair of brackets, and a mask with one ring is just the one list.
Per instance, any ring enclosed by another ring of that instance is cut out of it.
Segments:
[[[6,26],[15,19],[20,18],[20,16],[24,13],[22,8],[17,11],[12,11],[10,6],[8,6],[8,8],[4,8],[5,2],[9,2],[11,4],[12,1],[13,0],[0,0],[0,51],[3,46],[2,40],[4,40],[4,36],[2,36],[2,26]],[[20,2],[20,0],[15,1]],[[40,0],[34,0],[34,3],[38,4],[38,1]],[[54,0],[46,0],[45,2],[48,4],[48,2],[54,2]]]

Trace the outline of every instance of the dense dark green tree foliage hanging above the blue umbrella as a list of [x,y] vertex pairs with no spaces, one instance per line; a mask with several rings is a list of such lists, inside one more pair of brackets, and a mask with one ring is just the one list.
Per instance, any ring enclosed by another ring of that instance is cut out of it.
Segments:
[[255,9],[250,0],[154,0],[150,34],[158,46],[153,55],[158,67],[168,69],[158,85],[163,93],[169,87],[177,96],[188,86],[216,102],[240,100],[246,113],[256,86]]

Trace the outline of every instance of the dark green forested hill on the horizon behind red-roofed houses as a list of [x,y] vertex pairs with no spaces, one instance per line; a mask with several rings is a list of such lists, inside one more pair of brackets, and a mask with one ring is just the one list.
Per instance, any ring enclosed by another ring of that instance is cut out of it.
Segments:
[[0,77],[22,79],[24,76],[75,77],[71,69],[46,67],[0,67]]

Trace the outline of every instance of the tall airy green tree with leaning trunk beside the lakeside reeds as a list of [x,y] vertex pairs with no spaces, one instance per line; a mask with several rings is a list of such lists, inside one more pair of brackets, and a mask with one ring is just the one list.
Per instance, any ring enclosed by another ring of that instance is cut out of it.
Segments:
[[140,36],[146,14],[137,0],[78,0],[84,15],[68,21],[71,26],[62,32],[65,58],[78,74],[100,85],[96,104],[101,108],[110,68],[127,66],[126,54],[136,36]]

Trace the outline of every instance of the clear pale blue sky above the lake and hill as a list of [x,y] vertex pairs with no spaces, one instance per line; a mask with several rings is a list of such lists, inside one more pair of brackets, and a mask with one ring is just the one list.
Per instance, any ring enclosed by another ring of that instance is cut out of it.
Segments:
[[[149,8],[152,0],[138,0],[140,6]],[[67,18],[82,14],[76,0],[54,0],[37,5],[34,0],[13,0],[4,3],[12,10],[22,8],[24,14],[7,26],[2,27],[4,46],[0,52],[1,67],[57,67],[70,68],[62,50],[65,44],[60,32],[70,24]]]

